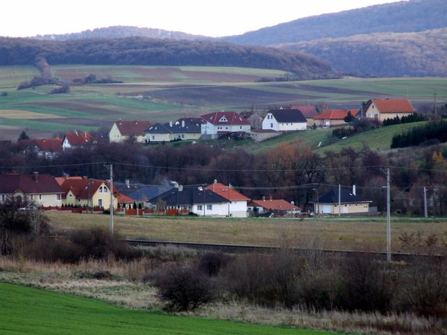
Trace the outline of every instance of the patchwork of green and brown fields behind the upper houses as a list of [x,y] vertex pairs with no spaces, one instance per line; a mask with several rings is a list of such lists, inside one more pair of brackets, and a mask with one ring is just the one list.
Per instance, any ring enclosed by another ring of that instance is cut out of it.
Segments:
[[[10,129],[11,139],[26,129],[33,135],[59,131],[89,131],[108,128],[116,119],[149,119],[165,122],[198,116],[213,110],[259,110],[291,103],[328,103],[330,107],[356,107],[374,96],[408,96],[413,103],[430,103],[437,91],[439,101],[447,98],[447,79],[346,77],[340,80],[302,82],[258,82],[261,77],[279,77],[281,70],[211,66],[51,66],[60,80],[82,78],[94,73],[122,84],[93,84],[71,87],[70,94],[49,95],[54,85],[17,91],[20,82],[38,75],[32,66],[1,66],[0,129]],[[144,100],[133,98],[145,96]],[[2,111],[34,112],[32,117],[3,117]],[[48,118],[47,114],[54,115]],[[45,121],[42,120],[45,118]],[[6,132],[3,131],[3,137]],[[281,140],[293,141],[293,135]],[[325,136],[309,137],[312,146]],[[313,138],[311,138],[313,137]],[[349,142],[349,141],[347,141]],[[271,140],[270,144],[274,145]],[[315,144],[316,143],[316,144]],[[262,144],[268,147],[270,144]],[[250,146],[256,150],[256,146]]]

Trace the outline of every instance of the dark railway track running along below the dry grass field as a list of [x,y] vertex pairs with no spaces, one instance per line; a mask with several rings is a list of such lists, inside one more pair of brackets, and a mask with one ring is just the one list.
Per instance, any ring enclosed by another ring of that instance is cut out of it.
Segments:
[[[194,242],[177,242],[177,241],[150,241],[146,239],[124,239],[132,246],[178,246],[183,248],[191,248],[199,251],[222,251],[224,253],[273,253],[279,250],[279,247],[275,246],[247,246],[241,244],[208,244],[208,243],[194,243]],[[328,257],[354,257],[359,255],[372,256],[379,260],[386,260],[385,252],[373,252],[373,251],[351,251],[351,250],[333,250],[333,249],[311,249],[311,248],[292,248],[298,254],[306,253],[323,253]],[[418,255],[413,253],[392,253],[392,259],[394,261],[411,261],[414,258],[435,258],[439,260],[445,260],[446,256],[443,255]]]

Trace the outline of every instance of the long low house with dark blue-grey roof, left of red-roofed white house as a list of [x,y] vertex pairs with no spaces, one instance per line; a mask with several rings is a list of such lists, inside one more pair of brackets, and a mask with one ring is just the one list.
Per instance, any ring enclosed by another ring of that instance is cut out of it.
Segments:
[[198,140],[201,125],[205,123],[200,118],[182,118],[166,124],[154,124],[145,130],[145,142],[170,142],[175,140]]

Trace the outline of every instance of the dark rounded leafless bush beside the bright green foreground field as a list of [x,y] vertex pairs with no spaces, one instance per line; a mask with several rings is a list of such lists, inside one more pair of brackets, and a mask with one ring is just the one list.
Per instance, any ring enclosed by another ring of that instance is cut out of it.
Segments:
[[192,266],[173,265],[156,276],[154,285],[175,311],[193,311],[217,297],[211,278]]

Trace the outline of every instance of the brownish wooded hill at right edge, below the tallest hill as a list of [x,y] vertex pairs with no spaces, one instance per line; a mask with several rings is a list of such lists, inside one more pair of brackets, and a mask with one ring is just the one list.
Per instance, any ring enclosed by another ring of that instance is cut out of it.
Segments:
[[400,77],[447,75],[447,28],[324,38],[281,45],[325,59],[342,73]]

